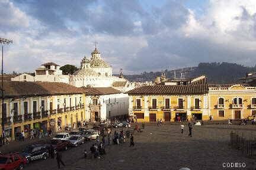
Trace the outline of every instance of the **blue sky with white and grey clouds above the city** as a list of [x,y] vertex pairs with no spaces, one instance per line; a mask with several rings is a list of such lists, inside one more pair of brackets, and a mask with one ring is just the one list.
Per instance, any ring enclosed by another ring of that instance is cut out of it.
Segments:
[[114,73],[256,63],[255,0],[0,0],[7,73],[80,66],[93,42]]

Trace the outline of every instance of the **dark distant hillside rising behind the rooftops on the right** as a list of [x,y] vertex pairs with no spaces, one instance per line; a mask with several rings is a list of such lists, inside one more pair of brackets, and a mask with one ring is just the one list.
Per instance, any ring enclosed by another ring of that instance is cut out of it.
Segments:
[[[187,67],[177,70],[164,70],[167,78],[197,77],[205,75],[209,83],[237,83],[238,79],[244,77],[248,72],[256,72],[256,67],[245,67],[235,63],[199,63],[197,67]],[[137,75],[126,75],[129,81],[154,81],[156,76],[161,76],[161,71],[143,72]]]

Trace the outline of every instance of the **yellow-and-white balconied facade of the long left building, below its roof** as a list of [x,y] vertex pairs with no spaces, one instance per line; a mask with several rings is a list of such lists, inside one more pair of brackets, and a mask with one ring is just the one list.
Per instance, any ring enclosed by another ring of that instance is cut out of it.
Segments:
[[[64,104],[64,99],[66,99],[66,104]],[[27,107],[24,103],[27,104]],[[7,117],[5,133],[11,140],[15,139],[15,133],[22,131],[27,137],[28,129],[37,128],[46,132],[51,128],[53,131],[57,131],[60,130],[60,127],[64,129],[65,126],[73,126],[73,123],[85,120],[85,94],[9,97],[4,100],[4,104]],[[14,105],[18,107],[17,112],[15,112]],[[2,108],[0,110],[2,113]],[[59,124],[58,120],[60,120]],[[2,129],[2,125],[0,127]],[[2,130],[0,135],[2,135]]]

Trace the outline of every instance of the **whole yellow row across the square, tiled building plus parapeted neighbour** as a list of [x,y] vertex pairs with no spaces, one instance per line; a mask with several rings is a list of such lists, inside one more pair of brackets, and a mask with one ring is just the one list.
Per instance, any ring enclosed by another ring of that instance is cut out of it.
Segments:
[[256,87],[249,84],[144,86],[127,92],[138,122],[245,119],[256,115]]

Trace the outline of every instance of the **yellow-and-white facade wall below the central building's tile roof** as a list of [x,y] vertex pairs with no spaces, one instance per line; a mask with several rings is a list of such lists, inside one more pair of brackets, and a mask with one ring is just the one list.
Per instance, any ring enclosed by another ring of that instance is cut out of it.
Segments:
[[[206,95],[146,95],[146,96],[135,96],[130,95],[129,100],[130,112],[134,115],[138,113],[143,114],[144,118],[137,116],[137,122],[155,122],[156,120],[164,121],[175,121],[177,116],[180,115],[183,119],[190,120],[193,114],[199,114],[203,119],[209,116],[203,116],[203,100]],[[153,99],[156,99],[156,108],[152,108]],[[167,108],[165,102],[169,99],[169,107]],[[178,100],[183,100],[183,107],[178,106]],[[199,108],[195,108],[195,99],[199,99]],[[137,107],[137,100],[140,100],[140,108]],[[151,115],[155,114],[155,115]],[[169,114],[169,116],[168,116]],[[178,115],[177,115],[178,114]],[[166,116],[167,115],[167,116]],[[155,117],[155,119],[150,118],[150,116]]]

